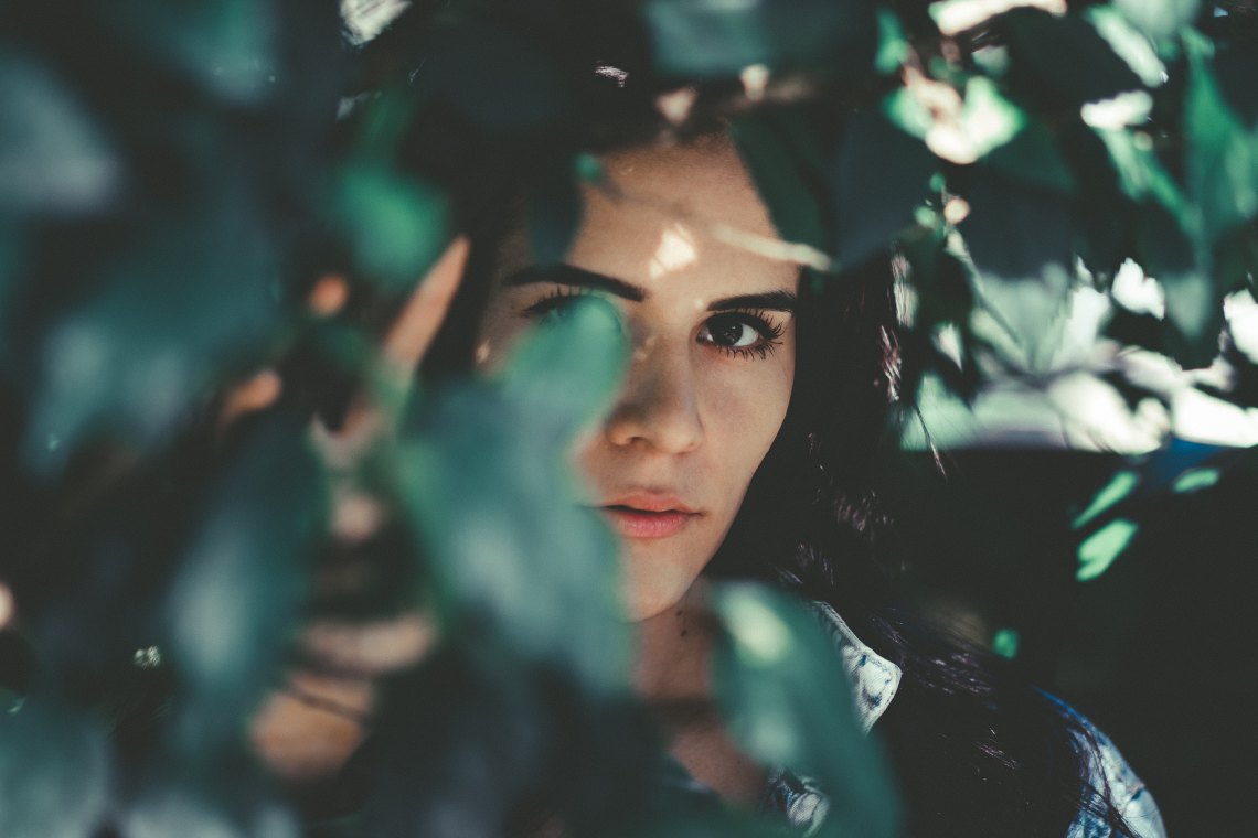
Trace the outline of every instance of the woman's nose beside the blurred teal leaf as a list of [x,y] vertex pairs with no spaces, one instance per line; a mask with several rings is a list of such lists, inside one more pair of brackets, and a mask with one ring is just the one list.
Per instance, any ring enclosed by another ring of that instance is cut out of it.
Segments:
[[686,347],[647,340],[634,353],[604,435],[615,446],[640,443],[660,454],[686,454],[703,441],[694,369]]

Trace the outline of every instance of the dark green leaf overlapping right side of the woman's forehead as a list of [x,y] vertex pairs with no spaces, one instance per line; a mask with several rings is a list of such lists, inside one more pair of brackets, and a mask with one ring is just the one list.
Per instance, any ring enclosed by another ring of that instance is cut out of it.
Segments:
[[730,133],[756,191],[769,206],[777,234],[788,241],[824,249],[825,229],[816,193],[820,173],[810,170],[810,161],[801,158],[793,143],[793,136],[803,134],[805,142],[810,137],[803,117],[798,113],[743,117],[733,122]]

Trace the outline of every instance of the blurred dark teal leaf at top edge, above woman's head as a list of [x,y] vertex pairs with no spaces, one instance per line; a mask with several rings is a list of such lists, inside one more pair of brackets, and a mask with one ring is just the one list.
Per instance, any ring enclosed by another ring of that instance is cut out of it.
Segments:
[[872,70],[878,50],[868,0],[649,0],[643,6],[665,75],[737,77],[770,70]]

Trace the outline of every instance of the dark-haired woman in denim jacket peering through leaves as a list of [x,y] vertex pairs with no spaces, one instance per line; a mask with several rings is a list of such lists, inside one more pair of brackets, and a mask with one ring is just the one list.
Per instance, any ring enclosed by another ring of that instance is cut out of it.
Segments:
[[[518,205],[491,214],[487,229],[504,232],[473,239],[425,364],[493,368],[586,295],[619,312],[632,359],[575,462],[619,536],[642,697],[710,699],[706,580],[767,579],[813,601],[830,628],[860,720],[889,745],[911,834],[1162,834],[1150,794],[1099,732],[891,599],[868,539],[897,371],[889,259],[814,284],[740,246],[777,234],[721,133],[603,165],[559,265],[532,263]],[[818,789],[770,776],[720,724],[673,725],[671,736],[672,754],[722,798],[803,827],[823,817]]]

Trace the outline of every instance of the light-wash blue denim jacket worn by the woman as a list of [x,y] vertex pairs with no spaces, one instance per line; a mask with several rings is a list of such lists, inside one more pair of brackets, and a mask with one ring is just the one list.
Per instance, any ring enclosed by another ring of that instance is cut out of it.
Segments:
[[[886,712],[899,687],[902,675],[899,667],[860,642],[830,606],[815,602],[813,607],[839,652],[854,692],[857,719],[862,730],[868,732]],[[1078,716],[1069,706],[1062,704],[1062,707],[1066,712]],[[1165,838],[1166,829],[1161,814],[1145,784],[1122,759],[1113,743],[1086,719],[1081,720],[1098,745],[1094,753],[1087,749],[1092,785],[1110,790],[1118,812],[1140,838]],[[779,813],[804,834],[813,834],[820,828],[828,809],[829,803],[824,793],[808,778],[798,776],[789,770],[776,770],[770,774],[761,799],[762,812]],[[1071,824],[1066,838],[1107,838],[1110,834],[1110,827],[1088,812],[1081,812]]]

